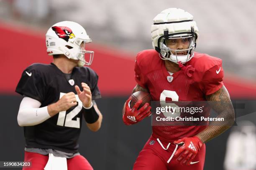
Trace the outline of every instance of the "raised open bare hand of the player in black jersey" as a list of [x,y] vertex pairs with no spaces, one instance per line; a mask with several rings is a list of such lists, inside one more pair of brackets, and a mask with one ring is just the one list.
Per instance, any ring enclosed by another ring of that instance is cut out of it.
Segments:
[[90,87],[82,82],[83,91],[81,92],[79,87],[76,85],[75,90],[77,91],[77,95],[79,99],[82,101],[84,107],[90,107],[92,104],[92,93]]

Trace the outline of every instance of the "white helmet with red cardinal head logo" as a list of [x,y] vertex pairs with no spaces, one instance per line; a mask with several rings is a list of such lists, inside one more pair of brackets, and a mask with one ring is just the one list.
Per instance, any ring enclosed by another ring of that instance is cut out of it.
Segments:
[[[85,50],[85,44],[92,42],[84,28],[72,21],[56,23],[46,32],[46,47],[49,55],[64,54],[69,59],[79,60],[78,66],[91,65],[93,51]],[[88,61],[85,54],[89,55]]]

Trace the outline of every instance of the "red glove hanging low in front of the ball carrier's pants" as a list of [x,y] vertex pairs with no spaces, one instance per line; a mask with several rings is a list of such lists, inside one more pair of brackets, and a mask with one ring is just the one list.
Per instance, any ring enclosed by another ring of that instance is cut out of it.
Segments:
[[177,161],[183,165],[191,165],[197,162],[192,162],[198,151],[202,147],[202,141],[196,136],[192,138],[182,138],[180,140],[175,140],[174,144],[182,145],[176,153],[174,157],[177,158]]

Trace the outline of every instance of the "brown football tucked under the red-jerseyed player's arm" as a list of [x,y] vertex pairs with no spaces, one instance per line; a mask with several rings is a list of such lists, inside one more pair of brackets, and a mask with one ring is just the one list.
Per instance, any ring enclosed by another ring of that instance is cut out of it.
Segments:
[[138,91],[135,92],[131,95],[132,99],[131,99],[131,103],[130,103],[130,107],[133,108],[133,106],[135,105],[136,102],[138,102],[138,100],[143,100],[141,105],[138,107],[141,108],[143,105],[145,105],[145,103],[149,103],[150,105],[150,101],[151,99],[151,95],[148,92],[143,92],[143,91]]

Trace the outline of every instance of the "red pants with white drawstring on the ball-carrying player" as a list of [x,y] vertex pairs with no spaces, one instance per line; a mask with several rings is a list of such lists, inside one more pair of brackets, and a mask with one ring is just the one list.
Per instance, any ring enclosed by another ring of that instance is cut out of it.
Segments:
[[[161,144],[164,148],[161,146]],[[177,158],[173,157],[171,160],[170,157],[174,154],[176,145],[170,143],[168,147],[168,142],[157,141],[156,138],[151,136],[147,143],[144,145],[144,148],[139,153],[136,162],[134,163],[133,170],[203,170],[205,163],[205,144],[202,145],[200,151],[197,153],[193,162],[199,161],[193,165],[181,165],[176,161]],[[179,149],[178,146],[177,149]],[[169,160],[169,163],[167,161]]]

